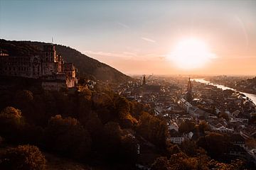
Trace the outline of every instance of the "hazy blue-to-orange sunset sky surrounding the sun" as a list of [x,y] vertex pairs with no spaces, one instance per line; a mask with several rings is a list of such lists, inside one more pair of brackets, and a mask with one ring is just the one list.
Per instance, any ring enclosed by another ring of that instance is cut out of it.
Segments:
[[[0,0],[0,38],[52,37],[125,74],[256,74],[256,1]],[[168,55],[188,38],[216,57],[178,68]]]

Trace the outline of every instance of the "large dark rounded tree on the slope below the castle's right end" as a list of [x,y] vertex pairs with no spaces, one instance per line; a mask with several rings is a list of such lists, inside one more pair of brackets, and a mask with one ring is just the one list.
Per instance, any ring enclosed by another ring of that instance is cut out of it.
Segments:
[[46,146],[56,152],[76,159],[90,152],[91,138],[85,128],[75,118],[50,118],[46,128]]

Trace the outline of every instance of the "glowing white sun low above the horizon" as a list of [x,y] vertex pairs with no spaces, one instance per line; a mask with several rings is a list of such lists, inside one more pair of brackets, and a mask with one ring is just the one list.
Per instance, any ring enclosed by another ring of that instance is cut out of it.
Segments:
[[168,59],[181,69],[203,67],[214,57],[206,43],[196,38],[181,40],[168,55]]

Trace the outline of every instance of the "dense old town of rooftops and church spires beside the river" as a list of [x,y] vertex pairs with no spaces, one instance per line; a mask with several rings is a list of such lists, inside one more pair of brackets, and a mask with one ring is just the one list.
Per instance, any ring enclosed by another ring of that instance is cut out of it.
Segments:
[[[189,77],[135,77],[137,81],[120,84],[117,93],[154,109],[154,114],[166,120],[167,141],[181,145],[186,140],[198,140],[202,135],[218,132],[227,135],[233,144],[230,157],[242,157],[256,162],[255,103],[237,91],[218,89]],[[184,125],[205,125],[203,133]]]

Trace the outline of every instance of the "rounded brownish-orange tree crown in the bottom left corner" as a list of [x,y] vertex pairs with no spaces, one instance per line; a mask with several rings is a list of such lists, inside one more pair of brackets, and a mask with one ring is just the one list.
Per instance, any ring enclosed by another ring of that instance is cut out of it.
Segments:
[[46,159],[38,147],[19,145],[6,151],[1,158],[0,168],[6,170],[43,170],[46,169]]

